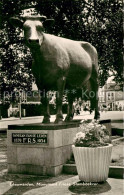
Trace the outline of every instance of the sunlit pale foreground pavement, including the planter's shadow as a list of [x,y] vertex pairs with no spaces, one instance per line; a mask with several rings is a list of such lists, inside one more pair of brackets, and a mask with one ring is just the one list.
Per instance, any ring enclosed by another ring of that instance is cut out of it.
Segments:
[[[38,185],[40,186],[40,183]],[[123,185],[122,179],[108,178],[104,183],[84,183],[79,180],[78,176],[72,176],[55,183],[41,183],[41,187],[28,190],[21,195],[122,195],[124,192]],[[18,195],[18,192],[16,194],[7,193],[11,187],[12,181],[1,183],[0,195]]]

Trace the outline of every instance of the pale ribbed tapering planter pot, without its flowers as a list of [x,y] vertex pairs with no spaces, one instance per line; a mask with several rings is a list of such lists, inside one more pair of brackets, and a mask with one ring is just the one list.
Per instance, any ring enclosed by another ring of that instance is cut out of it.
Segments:
[[106,181],[109,173],[112,144],[103,147],[75,147],[72,145],[79,179],[84,182]]

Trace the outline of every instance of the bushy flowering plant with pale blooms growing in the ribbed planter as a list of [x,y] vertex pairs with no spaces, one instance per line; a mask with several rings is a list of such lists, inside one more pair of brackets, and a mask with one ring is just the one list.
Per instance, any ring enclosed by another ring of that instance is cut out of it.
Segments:
[[111,143],[109,131],[97,121],[83,121],[81,131],[76,134],[73,143],[77,147],[100,147]]

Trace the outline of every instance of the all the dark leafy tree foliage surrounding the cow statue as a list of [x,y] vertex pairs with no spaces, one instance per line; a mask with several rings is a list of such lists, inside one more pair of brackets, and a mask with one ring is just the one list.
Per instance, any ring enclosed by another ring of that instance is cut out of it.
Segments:
[[20,29],[14,29],[11,16],[20,16],[23,9],[35,7],[55,24],[46,32],[93,44],[99,56],[100,85],[110,72],[122,86],[122,2],[120,0],[1,0],[1,63],[4,77],[2,91],[31,89],[30,51],[23,44]]

